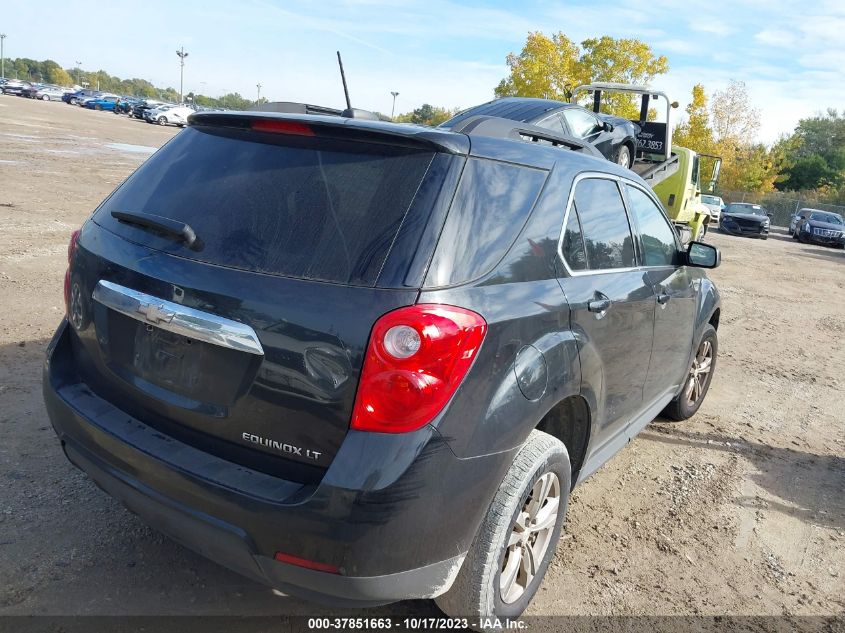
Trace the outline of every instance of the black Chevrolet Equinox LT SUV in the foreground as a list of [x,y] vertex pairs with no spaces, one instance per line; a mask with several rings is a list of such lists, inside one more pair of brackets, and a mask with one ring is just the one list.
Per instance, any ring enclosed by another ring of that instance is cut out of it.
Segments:
[[286,593],[520,614],[572,486],[701,404],[718,251],[513,121],[189,121],[72,236],[67,457]]

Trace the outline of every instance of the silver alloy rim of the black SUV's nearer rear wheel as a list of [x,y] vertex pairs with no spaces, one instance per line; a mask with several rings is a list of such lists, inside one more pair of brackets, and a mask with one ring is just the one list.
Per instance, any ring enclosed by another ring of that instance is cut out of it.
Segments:
[[560,503],[560,480],[555,473],[546,473],[531,488],[511,528],[499,579],[502,602],[518,600],[534,580],[549,548]]

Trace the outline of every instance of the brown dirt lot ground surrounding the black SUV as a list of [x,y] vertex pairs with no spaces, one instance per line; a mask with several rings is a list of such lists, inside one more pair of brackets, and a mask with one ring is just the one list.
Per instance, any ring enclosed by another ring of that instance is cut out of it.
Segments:
[[[328,612],[145,527],[70,466],[44,411],[68,235],[176,133],[0,96],[0,614]],[[575,492],[532,614],[845,609],[845,252],[783,232],[712,242],[724,305],[710,395]],[[409,612],[436,613],[370,614]]]

